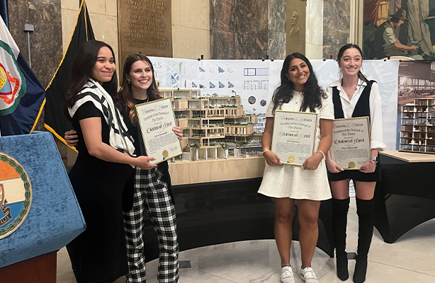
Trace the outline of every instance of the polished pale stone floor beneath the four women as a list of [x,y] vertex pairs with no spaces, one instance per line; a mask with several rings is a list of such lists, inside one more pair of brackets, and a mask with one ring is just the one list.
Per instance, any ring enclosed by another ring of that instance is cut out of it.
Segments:
[[[261,229],[259,227],[258,229]],[[347,250],[356,250],[358,220],[354,199],[349,212]],[[65,248],[57,254],[57,282],[75,283]],[[300,248],[292,243],[291,264],[299,273]],[[180,283],[279,283],[281,270],[275,241],[244,241],[186,250],[180,260],[190,260],[191,268],[180,270]],[[373,234],[368,255],[367,283],[435,282],[435,219],[421,224],[395,243],[382,241]],[[354,260],[349,261],[349,274],[354,273]],[[316,249],[312,260],[320,283],[341,282],[335,275],[334,258]],[[297,273],[296,273],[297,272]],[[120,278],[116,283],[125,282]],[[147,264],[147,282],[157,283],[157,260]],[[296,277],[296,282],[303,282]],[[346,282],[352,282],[351,277]]]

